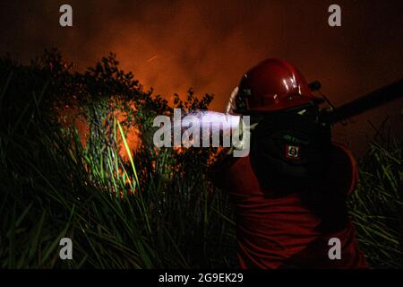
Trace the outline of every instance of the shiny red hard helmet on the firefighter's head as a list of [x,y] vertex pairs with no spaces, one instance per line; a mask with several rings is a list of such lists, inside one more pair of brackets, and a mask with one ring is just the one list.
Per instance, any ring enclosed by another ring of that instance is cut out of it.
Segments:
[[266,113],[318,104],[304,76],[284,60],[270,58],[249,70],[231,95],[227,112]]

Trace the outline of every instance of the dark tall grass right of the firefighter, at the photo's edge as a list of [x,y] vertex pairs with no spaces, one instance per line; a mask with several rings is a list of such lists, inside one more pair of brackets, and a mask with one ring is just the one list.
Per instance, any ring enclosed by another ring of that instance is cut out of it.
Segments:
[[377,140],[359,162],[360,180],[349,213],[374,268],[403,268],[403,142]]

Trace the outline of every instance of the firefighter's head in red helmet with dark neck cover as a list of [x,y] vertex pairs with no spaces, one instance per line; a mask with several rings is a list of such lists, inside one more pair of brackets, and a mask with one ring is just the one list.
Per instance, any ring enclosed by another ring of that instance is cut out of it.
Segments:
[[321,178],[331,137],[318,120],[322,102],[286,61],[270,58],[244,74],[227,113],[251,116],[251,164],[262,187],[295,192]]

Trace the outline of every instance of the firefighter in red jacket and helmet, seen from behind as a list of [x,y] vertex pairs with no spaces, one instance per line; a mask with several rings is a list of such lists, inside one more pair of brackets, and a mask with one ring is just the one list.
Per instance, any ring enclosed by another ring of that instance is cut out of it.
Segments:
[[227,112],[251,117],[251,150],[223,151],[211,177],[235,204],[242,268],[367,267],[346,207],[356,161],[319,122],[322,102],[280,59],[253,67],[230,97]]

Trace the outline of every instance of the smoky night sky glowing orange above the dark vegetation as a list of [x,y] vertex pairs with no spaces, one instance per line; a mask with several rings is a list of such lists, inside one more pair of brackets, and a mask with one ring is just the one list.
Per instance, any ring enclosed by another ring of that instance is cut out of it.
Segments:
[[[62,4],[73,6],[73,28],[59,26]],[[342,9],[341,27],[328,25],[330,4]],[[82,71],[112,51],[167,100],[193,87],[215,94],[216,110],[266,57],[320,80],[336,105],[403,77],[402,1],[2,1],[0,27],[0,55],[28,63],[57,47]],[[336,134],[359,146],[368,120],[389,114],[396,127],[402,108],[399,100],[355,117]]]

